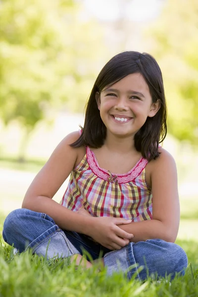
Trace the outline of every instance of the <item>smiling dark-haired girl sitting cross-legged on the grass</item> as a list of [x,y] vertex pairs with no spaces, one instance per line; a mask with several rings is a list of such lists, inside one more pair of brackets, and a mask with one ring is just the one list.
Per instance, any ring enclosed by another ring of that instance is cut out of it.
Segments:
[[[101,70],[80,133],[66,136],[30,185],[3,238],[22,252],[81,261],[102,254],[110,275],[141,280],[184,274],[174,244],[179,227],[177,170],[159,146],[166,136],[160,68],[147,53],[126,51]],[[52,200],[70,176],[61,204]],[[86,267],[92,263],[85,260]],[[130,267],[132,266],[132,267]],[[143,269],[140,272],[138,266]]]

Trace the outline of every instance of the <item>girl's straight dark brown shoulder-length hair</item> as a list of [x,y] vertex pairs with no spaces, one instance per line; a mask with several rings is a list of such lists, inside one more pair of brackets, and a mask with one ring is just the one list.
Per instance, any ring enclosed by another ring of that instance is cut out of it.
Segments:
[[167,133],[166,101],[161,70],[156,60],[148,53],[124,51],[112,57],[102,68],[96,79],[88,100],[85,123],[79,139],[71,147],[88,146],[101,148],[106,137],[106,127],[101,120],[96,93],[115,84],[125,76],[140,73],[148,84],[152,102],[159,100],[160,108],[153,117],[147,117],[145,124],[135,134],[134,143],[137,151],[148,161],[159,156],[158,145]]

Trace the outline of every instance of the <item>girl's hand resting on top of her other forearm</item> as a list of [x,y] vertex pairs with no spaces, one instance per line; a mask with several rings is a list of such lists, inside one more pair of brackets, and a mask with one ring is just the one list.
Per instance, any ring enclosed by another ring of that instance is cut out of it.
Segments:
[[94,217],[90,228],[89,236],[97,241],[103,247],[108,249],[121,249],[129,244],[134,237],[117,225],[130,224],[131,220],[114,217]]

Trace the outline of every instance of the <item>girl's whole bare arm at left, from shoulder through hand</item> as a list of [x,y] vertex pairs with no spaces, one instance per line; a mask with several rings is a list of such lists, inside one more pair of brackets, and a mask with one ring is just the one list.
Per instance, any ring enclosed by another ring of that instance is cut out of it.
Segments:
[[78,132],[71,133],[55,148],[48,162],[30,185],[22,208],[47,213],[61,229],[87,234],[110,249],[124,247],[132,235],[116,225],[128,224],[129,221],[80,215],[52,200],[72,169],[83,158],[83,148],[69,146],[78,137]]

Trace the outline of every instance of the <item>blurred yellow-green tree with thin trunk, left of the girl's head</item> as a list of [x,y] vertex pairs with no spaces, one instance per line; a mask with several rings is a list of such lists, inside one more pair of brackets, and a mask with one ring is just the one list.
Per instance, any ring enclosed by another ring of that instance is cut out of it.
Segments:
[[0,1],[0,117],[25,128],[21,160],[49,106],[83,110],[102,56],[99,26],[79,1]]

